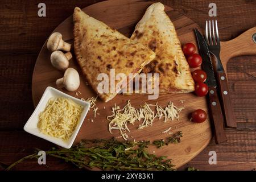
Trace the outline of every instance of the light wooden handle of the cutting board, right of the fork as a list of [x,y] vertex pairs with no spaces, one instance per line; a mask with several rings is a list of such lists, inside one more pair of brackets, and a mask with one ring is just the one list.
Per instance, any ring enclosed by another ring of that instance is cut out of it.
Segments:
[[232,40],[221,42],[220,58],[226,71],[226,64],[232,57],[256,55],[256,27],[250,28]]

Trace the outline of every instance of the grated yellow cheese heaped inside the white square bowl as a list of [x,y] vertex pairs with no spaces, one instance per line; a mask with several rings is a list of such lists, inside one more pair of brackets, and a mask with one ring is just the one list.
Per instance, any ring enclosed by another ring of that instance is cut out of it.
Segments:
[[39,114],[38,128],[46,135],[68,140],[79,122],[84,107],[67,98],[50,99]]

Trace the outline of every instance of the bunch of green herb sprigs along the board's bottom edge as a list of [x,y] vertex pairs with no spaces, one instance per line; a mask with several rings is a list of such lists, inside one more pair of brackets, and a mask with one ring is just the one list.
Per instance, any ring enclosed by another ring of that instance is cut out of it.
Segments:
[[[181,132],[170,137],[168,141],[169,143],[179,143],[180,137],[182,137]],[[146,148],[150,144],[150,141],[120,142],[114,138],[110,140],[82,140],[70,149],[52,148],[52,150],[46,151],[46,155],[71,162],[79,168],[174,170],[174,165],[170,159],[166,159],[166,156],[158,157],[148,153]],[[157,142],[152,144],[158,146]],[[38,158],[38,151],[11,164],[6,170],[10,170],[23,160]]]

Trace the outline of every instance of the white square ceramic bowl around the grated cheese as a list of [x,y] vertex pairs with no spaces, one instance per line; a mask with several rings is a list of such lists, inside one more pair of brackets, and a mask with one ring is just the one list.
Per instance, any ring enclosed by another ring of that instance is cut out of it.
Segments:
[[[46,109],[46,105],[47,105],[47,102],[49,101],[49,99],[56,98],[56,97],[69,98],[72,101],[76,102],[77,104],[84,106],[84,110],[82,111],[81,116],[80,116],[80,121],[79,121],[79,123],[77,123],[77,127],[76,127],[75,131],[73,131],[73,134],[67,141],[64,141],[63,139],[60,139],[60,138],[55,138],[55,137],[51,137],[49,135],[43,134],[38,129],[39,114],[42,111],[44,111],[44,109]],[[27,133],[30,133],[37,137],[46,139],[49,142],[55,143],[61,147],[71,148],[71,146],[76,138],[76,135],[79,132],[82,122],[84,122],[84,119],[85,119],[86,114],[88,113],[89,109],[90,109],[89,102],[82,101],[78,98],[69,96],[68,94],[60,92],[59,90],[52,88],[51,86],[48,86],[46,88],[46,90],[44,91],[44,94],[43,94],[38,106],[36,106],[34,113],[31,115],[31,117],[28,119],[26,125],[24,126],[24,130],[27,131]]]

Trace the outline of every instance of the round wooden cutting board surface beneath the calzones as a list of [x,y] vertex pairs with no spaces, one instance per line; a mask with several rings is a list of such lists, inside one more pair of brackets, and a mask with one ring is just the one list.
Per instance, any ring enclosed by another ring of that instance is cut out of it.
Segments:
[[[94,18],[105,22],[110,27],[116,28],[122,34],[130,37],[134,31],[134,27],[137,22],[142,18],[145,10],[153,2],[143,2],[143,1],[104,1],[96,3],[94,5],[88,6],[84,9],[85,13],[93,16]],[[193,28],[200,27],[177,11],[172,10],[171,7],[166,6],[165,9],[168,16],[170,16],[172,22],[175,25],[177,34],[179,36],[181,43],[192,42],[196,44],[195,35],[193,33]],[[73,16],[70,16],[63,23],[61,23],[54,32],[61,32],[63,34],[63,39],[66,42],[73,43]],[[73,53],[73,56],[75,55]],[[63,77],[63,73],[54,69],[50,61],[51,53],[46,48],[46,43],[42,47],[38,59],[36,60],[36,65],[34,68],[34,73],[32,77],[32,97],[34,105],[36,106],[42,97],[44,90],[47,86],[53,86],[56,88],[55,81],[57,78]],[[226,56],[228,61],[228,56]],[[224,63],[226,68],[226,62]],[[76,63],[75,57],[71,60],[71,67],[77,69],[80,73],[80,88],[78,89],[81,94],[76,96],[76,92],[67,92],[65,89],[60,89],[62,92],[68,93],[71,96],[78,98],[88,98],[96,96],[90,86],[85,84],[85,80],[82,77],[80,68]],[[111,115],[111,108],[114,104],[119,106],[126,105],[127,100],[131,100],[131,104],[135,107],[139,107],[144,102],[148,104],[155,104],[157,101],[159,105],[166,106],[168,101],[174,102],[178,107],[185,105],[185,109],[180,114],[179,121],[168,121],[164,123],[162,120],[155,120],[152,127],[147,127],[143,130],[138,130],[137,125],[129,125],[131,133],[127,133],[130,139],[135,140],[156,140],[165,139],[169,137],[169,134],[162,134],[162,131],[172,127],[170,132],[175,133],[176,131],[183,132],[183,138],[181,138],[181,143],[170,144],[169,146],[164,146],[160,149],[152,146],[148,148],[151,152],[155,152],[156,155],[168,156],[172,159],[172,163],[176,165],[176,168],[188,163],[189,160],[194,158],[200,151],[202,151],[209,143],[212,138],[212,133],[210,130],[209,117],[204,123],[192,123],[189,121],[190,113],[195,109],[204,109],[208,113],[207,101],[205,97],[197,97],[193,93],[187,94],[162,94],[159,96],[158,100],[147,100],[147,96],[116,96],[112,101],[108,103],[102,102],[100,99],[97,101],[98,113],[96,118],[94,118],[93,111],[90,110],[85,118],[85,121],[77,135],[76,141],[79,142],[81,139],[101,139],[101,138],[111,138],[118,137],[118,131],[114,131],[113,135],[108,131],[108,121],[106,121],[106,116]],[[181,103],[183,100],[183,104]],[[104,109],[105,107],[105,109]],[[209,115],[209,113],[208,113]],[[94,122],[91,122],[93,119]]]

